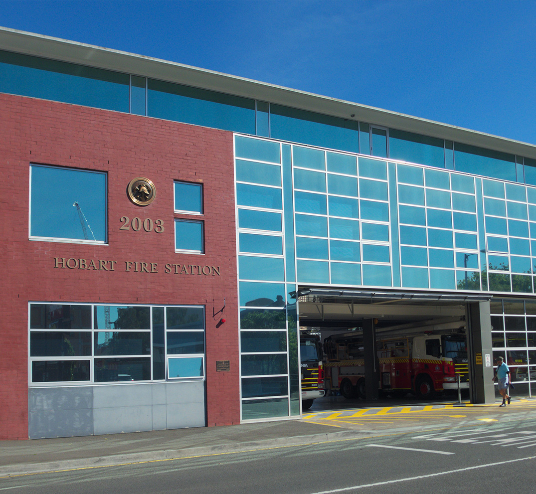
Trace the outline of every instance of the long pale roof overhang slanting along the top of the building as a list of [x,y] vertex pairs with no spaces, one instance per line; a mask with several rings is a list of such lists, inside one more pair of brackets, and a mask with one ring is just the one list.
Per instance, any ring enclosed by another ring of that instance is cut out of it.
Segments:
[[0,49],[212,89],[536,159],[536,146],[521,141],[125,51],[5,27],[0,27]]

